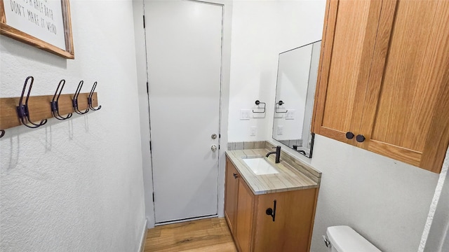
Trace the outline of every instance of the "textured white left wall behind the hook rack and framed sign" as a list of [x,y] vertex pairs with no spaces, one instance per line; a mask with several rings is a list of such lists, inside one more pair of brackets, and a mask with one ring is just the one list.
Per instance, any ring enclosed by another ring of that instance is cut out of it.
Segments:
[[0,140],[0,251],[138,251],[145,225],[133,8],[70,1],[74,60],[1,36],[1,97],[82,92],[100,111],[6,130]]

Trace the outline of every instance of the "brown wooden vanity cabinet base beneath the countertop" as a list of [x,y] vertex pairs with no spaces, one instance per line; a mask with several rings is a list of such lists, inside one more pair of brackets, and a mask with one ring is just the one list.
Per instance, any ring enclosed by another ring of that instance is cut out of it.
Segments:
[[254,195],[228,159],[226,169],[225,218],[240,252],[309,251],[317,188]]

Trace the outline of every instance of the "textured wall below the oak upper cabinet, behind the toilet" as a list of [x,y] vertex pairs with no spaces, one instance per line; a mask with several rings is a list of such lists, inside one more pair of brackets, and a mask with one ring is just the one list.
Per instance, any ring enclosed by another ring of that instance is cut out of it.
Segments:
[[316,135],[311,165],[323,172],[311,251],[349,225],[381,251],[417,251],[438,174]]

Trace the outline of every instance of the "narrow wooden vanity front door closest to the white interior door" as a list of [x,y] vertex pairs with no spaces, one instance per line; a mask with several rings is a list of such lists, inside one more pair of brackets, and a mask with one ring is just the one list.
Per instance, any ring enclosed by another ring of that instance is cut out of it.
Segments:
[[239,172],[237,172],[232,162],[226,158],[226,182],[225,182],[225,216],[229,229],[235,232],[237,192],[239,188]]

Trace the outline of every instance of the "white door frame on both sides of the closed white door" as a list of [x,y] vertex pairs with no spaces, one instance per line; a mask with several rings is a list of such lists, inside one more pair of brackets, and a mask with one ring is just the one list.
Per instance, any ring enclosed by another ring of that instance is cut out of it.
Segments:
[[[145,1],[133,1],[135,52],[138,75],[138,103],[140,114],[140,133],[142,139],[142,173],[145,189],[145,216],[147,228],[154,228],[154,204],[153,204],[153,175],[151,164],[151,152],[149,151],[149,99],[147,94],[147,62],[145,48],[145,29],[143,29],[143,16],[145,15]],[[195,0],[189,0],[195,1]],[[232,27],[232,1],[210,0],[202,1],[216,3],[223,6],[222,25],[222,76],[220,97],[220,152],[218,164],[218,204],[217,216],[223,217],[225,205],[225,151],[227,150],[227,132],[229,115],[229,78],[231,71],[231,27]]]

